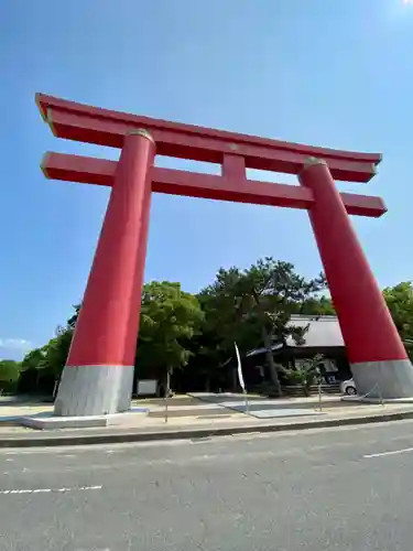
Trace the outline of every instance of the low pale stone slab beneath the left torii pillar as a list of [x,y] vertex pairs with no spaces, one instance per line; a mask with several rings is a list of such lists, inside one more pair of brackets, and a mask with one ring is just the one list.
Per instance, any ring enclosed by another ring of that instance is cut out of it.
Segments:
[[133,408],[124,413],[111,415],[80,415],[80,417],[56,417],[53,413],[39,413],[36,415],[24,415],[19,419],[19,424],[30,429],[53,431],[56,429],[94,429],[97,426],[109,426],[130,424],[137,417],[146,417],[148,408]]

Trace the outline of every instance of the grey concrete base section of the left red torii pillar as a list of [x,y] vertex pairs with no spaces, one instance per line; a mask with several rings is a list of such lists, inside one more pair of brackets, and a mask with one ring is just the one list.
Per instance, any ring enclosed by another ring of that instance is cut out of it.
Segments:
[[95,417],[128,411],[132,383],[133,366],[66,366],[54,414]]

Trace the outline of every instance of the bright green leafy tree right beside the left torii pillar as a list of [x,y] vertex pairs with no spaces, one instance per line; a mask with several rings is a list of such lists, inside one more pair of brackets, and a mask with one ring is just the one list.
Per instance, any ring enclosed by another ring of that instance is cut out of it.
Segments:
[[156,369],[163,376],[184,367],[192,355],[191,339],[203,321],[198,300],[182,291],[180,283],[153,281],[143,285],[138,369]]

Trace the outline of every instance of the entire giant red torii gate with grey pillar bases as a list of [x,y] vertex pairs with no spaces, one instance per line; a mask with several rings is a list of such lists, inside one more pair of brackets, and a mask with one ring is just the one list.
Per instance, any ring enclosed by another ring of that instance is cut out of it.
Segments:
[[[338,193],[368,182],[380,154],[336,151],[89,107],[42,94],[53,133],[121,149],[119,162],[47,153],[46,177],[111,186],[55,414],[130,407],[152,192],[307,209],[360,392],[413,396],[413,369],[348,215],[379,217],[380,197]],[[221,175],[159,169],[161,155],[219,163]],[[247,180],[246,169],[297,174],[301,186]]]

